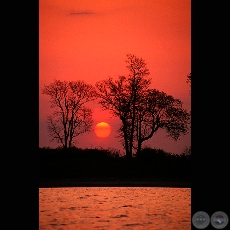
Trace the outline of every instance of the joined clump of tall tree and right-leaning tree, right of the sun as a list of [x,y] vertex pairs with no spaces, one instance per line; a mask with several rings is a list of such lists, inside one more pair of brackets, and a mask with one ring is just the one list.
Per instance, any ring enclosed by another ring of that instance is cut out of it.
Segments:
[[145,61],[135,55],[127,55],[128,76],[118,80],[108,78],[96,83],[102,108],[119,117],[118,130],[126,157],[138,155],[142,143],[157,130],[165,129],[168,136],[177,140],[188,131],[190,114],[182,108],[182,102],[172,96],[150,89],[151,79]]

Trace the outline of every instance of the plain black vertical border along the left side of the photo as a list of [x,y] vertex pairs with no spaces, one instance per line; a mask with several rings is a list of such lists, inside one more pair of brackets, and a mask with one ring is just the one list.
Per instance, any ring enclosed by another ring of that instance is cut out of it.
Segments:
[[2,203],[8,228],[39,229],[39,0],[5,5]]

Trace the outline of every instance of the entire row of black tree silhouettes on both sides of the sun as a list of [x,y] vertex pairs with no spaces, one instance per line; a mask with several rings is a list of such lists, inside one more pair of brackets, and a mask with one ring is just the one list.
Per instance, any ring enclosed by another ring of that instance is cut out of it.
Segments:
[[[92,131],[93,109],[90,101],[120,120],[118,137],[127,158],[141,154],[144,143],[158,130],[175,141],[188,134],[191,114],[183,102],[163,91],[151,88],[150,71],[144,59],[127,54],[128,75],[108,77],[95,85],[81,80],[60,81],[44,86],[53,113],[47,117],[50,141],[72,148],[78,135]],[[188,76],[191,80],[191,75]]]

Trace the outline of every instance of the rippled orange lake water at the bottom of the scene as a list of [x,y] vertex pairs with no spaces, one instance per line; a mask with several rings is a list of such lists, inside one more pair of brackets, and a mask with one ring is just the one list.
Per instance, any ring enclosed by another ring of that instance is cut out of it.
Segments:
[[39,229],[191,229],[191,189],[39,188]]

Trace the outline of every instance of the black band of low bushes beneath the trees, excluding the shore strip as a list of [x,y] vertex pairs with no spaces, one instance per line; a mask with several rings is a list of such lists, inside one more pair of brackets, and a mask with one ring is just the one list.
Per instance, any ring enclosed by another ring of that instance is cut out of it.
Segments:
[[144,148],[128,159],[107,149],[39,149],[39,178],[179,178],[190,181],[191,155],[173,155]]

